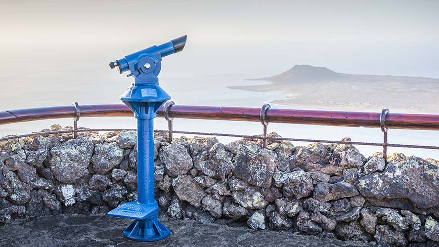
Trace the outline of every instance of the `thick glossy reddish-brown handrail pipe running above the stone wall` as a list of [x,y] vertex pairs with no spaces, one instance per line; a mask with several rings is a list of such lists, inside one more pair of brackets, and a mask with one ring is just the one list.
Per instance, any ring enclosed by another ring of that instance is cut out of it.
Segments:
[[[132,112],[125,105],[81,105],[81,117],[131,117]],[[169,111],[171,118],[260,121],[261,108],[184,106],[174,105]],[[73,106],[20,109],[0,112],[0,124],[29,122],[43,119],[73,118]],[[158,117],[164,117],[163,109]],[[266,112],[269,123],[316,124],[331,126],[380,127],[380,113],[316,111],[294,109],[269,109]],[[398,129],[439,130],[439,115],[389,113],[386,126]]]

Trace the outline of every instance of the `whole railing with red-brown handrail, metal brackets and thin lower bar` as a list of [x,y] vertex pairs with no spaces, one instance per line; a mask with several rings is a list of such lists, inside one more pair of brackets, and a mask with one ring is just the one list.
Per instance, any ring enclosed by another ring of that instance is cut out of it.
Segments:
[[[125,105],[79,105],[55,106],[44,108],[20,109],[0,112],[0,125],[19,122],[29,122],[44,119],[73,118],[74,128],[71,130],[45,131],[24,135],[14,135],[0,138],[0,141],[26,136],[37,136],[47,134],[60,134],[73,132],[75,137],[78,132],[88,131],[117,131],[120,128],[106,129],[78,129],[80,117],[129,117],[132,111]],[[255,138],[263,140],[263,147],[266,147],[266,140],[322,142],[336,144],[354,144],[366,146],[382,146],[383,157],[387,160],[387,147],[401,148],[423,148],[439,150],[439,146],[393,144],[387,142],[388,129],[424,129],[439,130],[439,115],[431,114],[400,114],[390,113],[389,109],[383,109],[381,113],[370,112],[344,112],[344,111],[316,111],[316,110],[294,110],[294,109],[273,109],[268,104],[262,108],[247,107],[214,107],[214,106],[184,106],[175,105],[173,101],[167,102],[157,113],[168,121],[167,130],[155,130],[155,132],[168,133],[168,141],[172,141],[172,134],[195,134],[209,136],[228,136],[239,138]],[[226,121],[248,121],[261,122],[263,125],[262,135],[240,135],[228,133],[208,133],[194,131],[179,131],[173,129],[173,119],[204,119],[204,120],[226,120]],[[383,142],[355,142],[318,139],[299,139],[267,136],[269,123],[284,124],[314,124],[330,126],[355,126],[355,127],[377,127],[383,132]]]

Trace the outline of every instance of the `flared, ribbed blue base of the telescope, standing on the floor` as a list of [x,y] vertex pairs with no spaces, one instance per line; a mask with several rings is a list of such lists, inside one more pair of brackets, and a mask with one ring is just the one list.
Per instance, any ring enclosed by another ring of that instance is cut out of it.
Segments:
[[124,230],[124,237],[129,240],[152,242],[167,238],[171,231],[158,221],[157,216],[134,220]]

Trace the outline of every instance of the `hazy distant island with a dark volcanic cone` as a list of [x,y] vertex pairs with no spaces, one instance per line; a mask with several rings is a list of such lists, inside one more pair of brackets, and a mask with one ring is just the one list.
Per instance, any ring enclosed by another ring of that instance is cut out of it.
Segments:
[[260,85],[229,86],[251,91],[280,91],[274,104],[348,111],[439,113],[439,79],[337,73],[325,67],[295,65],[276,76],[249,79]]

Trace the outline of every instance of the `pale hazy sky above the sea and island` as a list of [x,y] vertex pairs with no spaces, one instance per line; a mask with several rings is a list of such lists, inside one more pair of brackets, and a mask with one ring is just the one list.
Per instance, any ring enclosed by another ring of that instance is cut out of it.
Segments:
[[0,52],[14,67],[81,66],[187,34],[187,55],[168,65],[180,74],[270,76],[311,64],[439,78],[438,9],[436,0],[0,0]]

